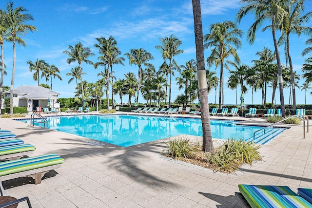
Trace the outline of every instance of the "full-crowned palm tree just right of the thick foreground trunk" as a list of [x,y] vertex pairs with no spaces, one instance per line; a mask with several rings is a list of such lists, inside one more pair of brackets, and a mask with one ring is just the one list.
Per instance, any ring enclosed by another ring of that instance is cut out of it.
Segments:
[[[229,69],[225,59],[233,56],[234,62],[240,64],[240,59],[236,53],[236,48],[240,48],[242,43],[239,38],[242,37],[243,31],[237,28],[237,25],[232,21],[218,22],[210,25],[210,34],[204,36],[204,48],[213,48],[210,57],[207,58],[208,66],[213,64],[217,67],[220,65],[220,84],[219,84],[219,109],[221,108],[221,97],[223,99],[223,67]],[[234,46],[233,46],[233,45]]]

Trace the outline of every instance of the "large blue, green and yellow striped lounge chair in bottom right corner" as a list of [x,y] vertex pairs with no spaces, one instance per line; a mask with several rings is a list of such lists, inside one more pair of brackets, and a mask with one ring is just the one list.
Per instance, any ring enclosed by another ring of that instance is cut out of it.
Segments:
[[287,186],[259,186],[239,184],[235,192],[243,207],[252,208],[311,208],[303,197]]

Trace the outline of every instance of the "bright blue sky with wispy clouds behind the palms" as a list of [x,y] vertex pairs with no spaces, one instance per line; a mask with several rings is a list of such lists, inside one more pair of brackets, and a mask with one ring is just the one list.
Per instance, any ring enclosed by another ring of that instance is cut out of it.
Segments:
[[[0,2],[0,8],[4,9],[6,1]],[[74,46],[79,41],[84,47],[89,47],[95,54],[89,57],[94,63],[98,61],[99,53],[94,47],[97,43],[95,38],[113,36],[117,40],[117,47],[122,55],[128,53],[130,49],[143,48],[154,56],[154,60],[150,63],[154,64],[156,70],[163,63],[161,53],[155,48],[160,45],[159,38],[175,35],[182,41],[179,49],[184,53],[175,58],[179,65],[185,65],[190,59],[196,59],[195,55],[195,35],[194,35],[194,17],[191,0],[14,0],[15,7],[23,6],[28,10],[34,21],[28,21],[27,24],[34,25],[38,31],[28,32],[21,38],[26,42],[26,47],[17,44],[16,47],[16,74],[14,87],[20,85],[38,85],[38,81],[33,79],[34,72],[29,71],[27,61],[35,62],[43,59],[46,63],[54,64],[60,70],[62,81],[58,78],[52,80],[53,91],[60,93],[59,97],[74,97],[76,82],[72,81],[68,84],[70,76],[65,76],[72,68],[78,66],[78,63],[67,64],[67,55],[63,51],[68,50],[68,46]],[[237,11],[243,6],[239,0],[201,0],[203,34],[209,33],[209,26],[216,22],[225,20],[235,21]],[[306,14],[311,11],[312,1],[305,2]],[[244,17],[238,28],[244,31],[241,38],[242,47],[237,50],[241,64],[252,65],[252,60],[257,59],[255,54],[262,51],[264,47],[268,47],[274,51],[273,38],[271,31],[256,33],[256,39],[253,45],[249,45],[246,41],[246,33],[248,28],[254,23],[254,16]],[[265,22],[262,26],[267,26]],[[306,26],[312,27],[312,20]],[[277,33],[279,38],[280,34]],[[303,49],[308,47],[305,41],[309,38],[301,35],[291,35],[291,56],[294,71],[302,75],[301,67],[306,57],[301,57]],[[286,64],[284,57],[284,47],[279,48],[282,64]],[[205,50],[205,59],[210,56],[211,51]],[[133,72],[136,76],[138,68],[136,65],[130,65],[129,59],[125,56],[125,66],[114,65],[114,76],[124,78],[128,72]],[[7,76],[4,76],[4,85],[11,85],[12,65],[13,65],[13,46],[11,42],[4,42],[4,62],[6,64]],[[207,66],[207,65],[206,65]],[[83,80],[95,83],[99,77],[97,76],[103,69],[95,69],[91,65],[81,64],[83,72],[87,75],[83,76]],[[211,71],[216,72],[219,77],[219,67],[213,66]],[[234,70],[231,68],[231,70]],[[227,70],[224,71],[224,82],[229,77]],[[178,73],[176,73],[178,76]],[[277,75],[276,75],[277,76]],[[172,84],[172,101],[176,95],[182,94],[184,90],[178,90],[173,77]],[[299,81],[302,86],[303,79]],[[45,78],[40,79],[41,83],[50,85],[50,81]],[[226,86],[226,85],[225,85]],[[224,88],[224,104],[236,104],[235,90]],[[312,95],[308,90],[307,104],[312,103]],[[111,89],[110,89],[111,92]],[[237,89],[237,102],[239,103],[240,89]],[[169,93],[169,91],[168,91]],[[110,93],[111,94],[111,93]],[[218,102],[218,91],[216,102]],[[105,96],[105,95],[104,95]],[[289,104],[290,88],[284,89],[285,104]],[[110,95],[111,97],[111,95]],[[116,102],[119,103],[118,95],[114,95]],[[252,104],[252,91],[249,90],[244,96],[245,104]],[[128,95],[123,96],[123,102],[128,101]],[[134,102],[134,98],[132,98]],[[268,88],[267,102],[272,100],[272,88]],[[209,103],[215,103],[215,91],[213,90],[208,96]],[[146,102],[142,96],[139,96],[139,102]],[[279,90],[276,91],[276,104],[280,103]],[[296,89],[296,103],[305,103],[305,91]],[[261,104],[261,90],[254,93],[254,104]]]

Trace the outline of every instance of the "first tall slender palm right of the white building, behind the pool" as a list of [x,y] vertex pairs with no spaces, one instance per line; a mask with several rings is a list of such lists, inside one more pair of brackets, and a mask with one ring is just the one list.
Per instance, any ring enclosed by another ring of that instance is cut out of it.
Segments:
[[72,45],[69,45],[68,49],[69,51],[63,51],[64,54],[69,56],[69,58],[66,59],[66,62],[68,63],[68,65],[76,61],[78,61],[78,64],[79,64],[82,105],[84,105],[84,90],[83,90],[83,83],[82,83],[81,63],[85,62],[86,64],[94,65],[92,61],[87,60],[88,57],[94,56],[94,53],[91,52],[90,48],[83,47],[81,42],[78,42],[75,45],[75,47],[73,47]]

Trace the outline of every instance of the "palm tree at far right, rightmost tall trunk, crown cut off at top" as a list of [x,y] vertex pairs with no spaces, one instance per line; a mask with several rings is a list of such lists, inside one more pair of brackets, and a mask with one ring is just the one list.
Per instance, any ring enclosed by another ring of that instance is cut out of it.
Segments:
[[291,88],[292,88],[292,109],[296,109],[296,95],[295,95],[295,77],[292,68],[292,58],[290,55],[290,41],[289,35],[291,33],[295,33],[298,37],[301,33],[311,36],[312,35],[312,27],[302,26],[309,22],[312,17],[312,12],[300,17],[301,12],[304,10],[304,0],[299,1],[290,1],[283,5],[285,9],[286,16],[281,25],[282,36],[279,39],[278,43],[285,43],[285,57],[286,61],[289,62],[290,72],[291,72]]

